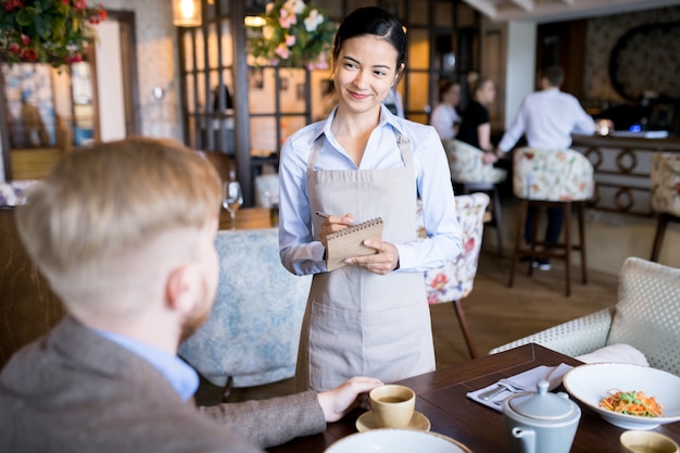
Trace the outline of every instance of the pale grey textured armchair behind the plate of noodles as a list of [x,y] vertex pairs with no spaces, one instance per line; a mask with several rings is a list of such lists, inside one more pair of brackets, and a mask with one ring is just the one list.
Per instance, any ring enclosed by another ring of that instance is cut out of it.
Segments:
[[[644,355],[650,366],[680,376],[678,332],[680,269],[631,256],[619,272],[616,305],[503,344],[490,353],[538,343],[578,358],[603,348],[630,345]],[[615,354],[608,361],[624,360]]]

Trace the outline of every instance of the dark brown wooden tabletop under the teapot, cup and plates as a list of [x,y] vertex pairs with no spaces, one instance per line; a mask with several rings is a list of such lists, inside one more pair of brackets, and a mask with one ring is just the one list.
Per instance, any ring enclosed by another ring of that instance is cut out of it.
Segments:
[[[432,431],[456,439],[476,453],[502,453],[509,452],[503,414],[469,400],[465,394],[503,377],[539,365],[554,366],[562,362],[580,364],[575,358],[538,344],[527,344],[405,379],[400,383],[415,390],[418,395],[416,411],[430,419]],[[563,388],[558,390],[564,391]],[[356,432],[354,424],[362,413],[356,411],[338,423],[329,424],[320,435],[298,438],[267,451],[320,453],[336,440]],[[655,430],[680,441],[680,423],[664,425]],[[618,438],[624,431],[581,405],[581,419],[571,453],[619,453]]]

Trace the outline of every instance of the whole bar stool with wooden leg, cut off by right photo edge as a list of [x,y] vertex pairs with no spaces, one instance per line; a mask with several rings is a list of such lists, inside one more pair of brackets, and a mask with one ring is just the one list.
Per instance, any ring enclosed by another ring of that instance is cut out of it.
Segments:
[[680,222],[680,155],[657,152],[652,155],[652,210],[656,234],[651,261],[657,262],[668,222]]

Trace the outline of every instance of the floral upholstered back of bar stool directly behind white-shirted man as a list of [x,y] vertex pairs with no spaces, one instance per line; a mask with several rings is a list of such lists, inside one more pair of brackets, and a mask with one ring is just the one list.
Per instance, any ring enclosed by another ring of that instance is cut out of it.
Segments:
[[513,191],[524,200],[584,201],[593,197],[593,166],[580,152],[520,148],[514,151]]

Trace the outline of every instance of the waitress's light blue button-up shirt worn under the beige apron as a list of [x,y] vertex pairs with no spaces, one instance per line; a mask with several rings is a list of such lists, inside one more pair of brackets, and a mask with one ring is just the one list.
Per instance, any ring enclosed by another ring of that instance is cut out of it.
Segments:
[[[449,161],[435,128],[400,118],[382,105],[380,123],[370,134],[362,161],[356,166],[330,129],[336,112],[325,121],[300,129],[281,148],[279,252],[284,266],[297,275],[326,272],[324,246],[312,236],[306,189],[307,161],[313,143],[322,135],[325,139],[315,169],[362,171],[403,166],[396,134],[407,137],[412,143],[415,187],[423,199],[428,239],[394,244],[399,250],[398,272],[423,272],[455,259],[462,250],[461,227],[455,215]],[[413,215],[416,215],[415,206]]]

